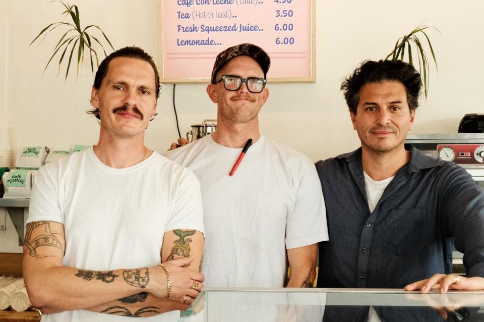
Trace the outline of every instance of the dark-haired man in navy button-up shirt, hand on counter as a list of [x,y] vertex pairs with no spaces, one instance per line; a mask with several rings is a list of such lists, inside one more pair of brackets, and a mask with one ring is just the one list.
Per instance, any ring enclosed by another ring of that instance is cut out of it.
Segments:
[[[419,73],[401,61],[367,61],[341,89],[361,147],[316,164],[330,234],[319,246],[318,287],[484,288],[484,193],[461,167],[404,144]],[[451,274],[453,244],[467,277]],[[325,320],[345,320],[331,312]],[[364,320],[368,308],[346,313]]]

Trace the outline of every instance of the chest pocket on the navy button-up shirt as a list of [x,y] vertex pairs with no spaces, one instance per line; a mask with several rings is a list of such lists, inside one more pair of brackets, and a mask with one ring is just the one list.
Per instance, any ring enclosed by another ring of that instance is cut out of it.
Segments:
[[400,256],[425,253],[435,232],[429,225],[430,217],[427,208],[390,210],[385,220],[385,250]]

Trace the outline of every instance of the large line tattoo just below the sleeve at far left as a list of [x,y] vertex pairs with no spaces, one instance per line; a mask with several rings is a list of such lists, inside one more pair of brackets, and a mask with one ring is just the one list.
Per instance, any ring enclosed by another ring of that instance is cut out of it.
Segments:
[[[63,238],[64,232],[60,234],[59,237]],[[51,232],[50,222],[47,221],[33,222],[27,225],[27,232],[25,233],[25,245],[29,249],[30,256],[36,258],[54,257],[54,255],[40,254],[38,252],[38,248],[41,246],[55,247],[64,253],[62,242]]]

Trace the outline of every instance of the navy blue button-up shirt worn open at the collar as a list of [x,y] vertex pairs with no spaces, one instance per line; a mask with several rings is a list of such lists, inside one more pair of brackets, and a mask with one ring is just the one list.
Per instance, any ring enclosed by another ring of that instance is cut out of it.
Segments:
[[329,241],[318,287],[402,288],[452,271],[453,240],[467,276],[484,277],[484,192],[461,167],[411,153],[370,213],[361,148],[316,163]]

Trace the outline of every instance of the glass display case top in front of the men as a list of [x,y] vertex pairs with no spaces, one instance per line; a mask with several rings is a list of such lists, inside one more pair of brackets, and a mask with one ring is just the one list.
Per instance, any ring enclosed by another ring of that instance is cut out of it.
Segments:
[[206,288],[179,321],[484,321],[484,291]]

